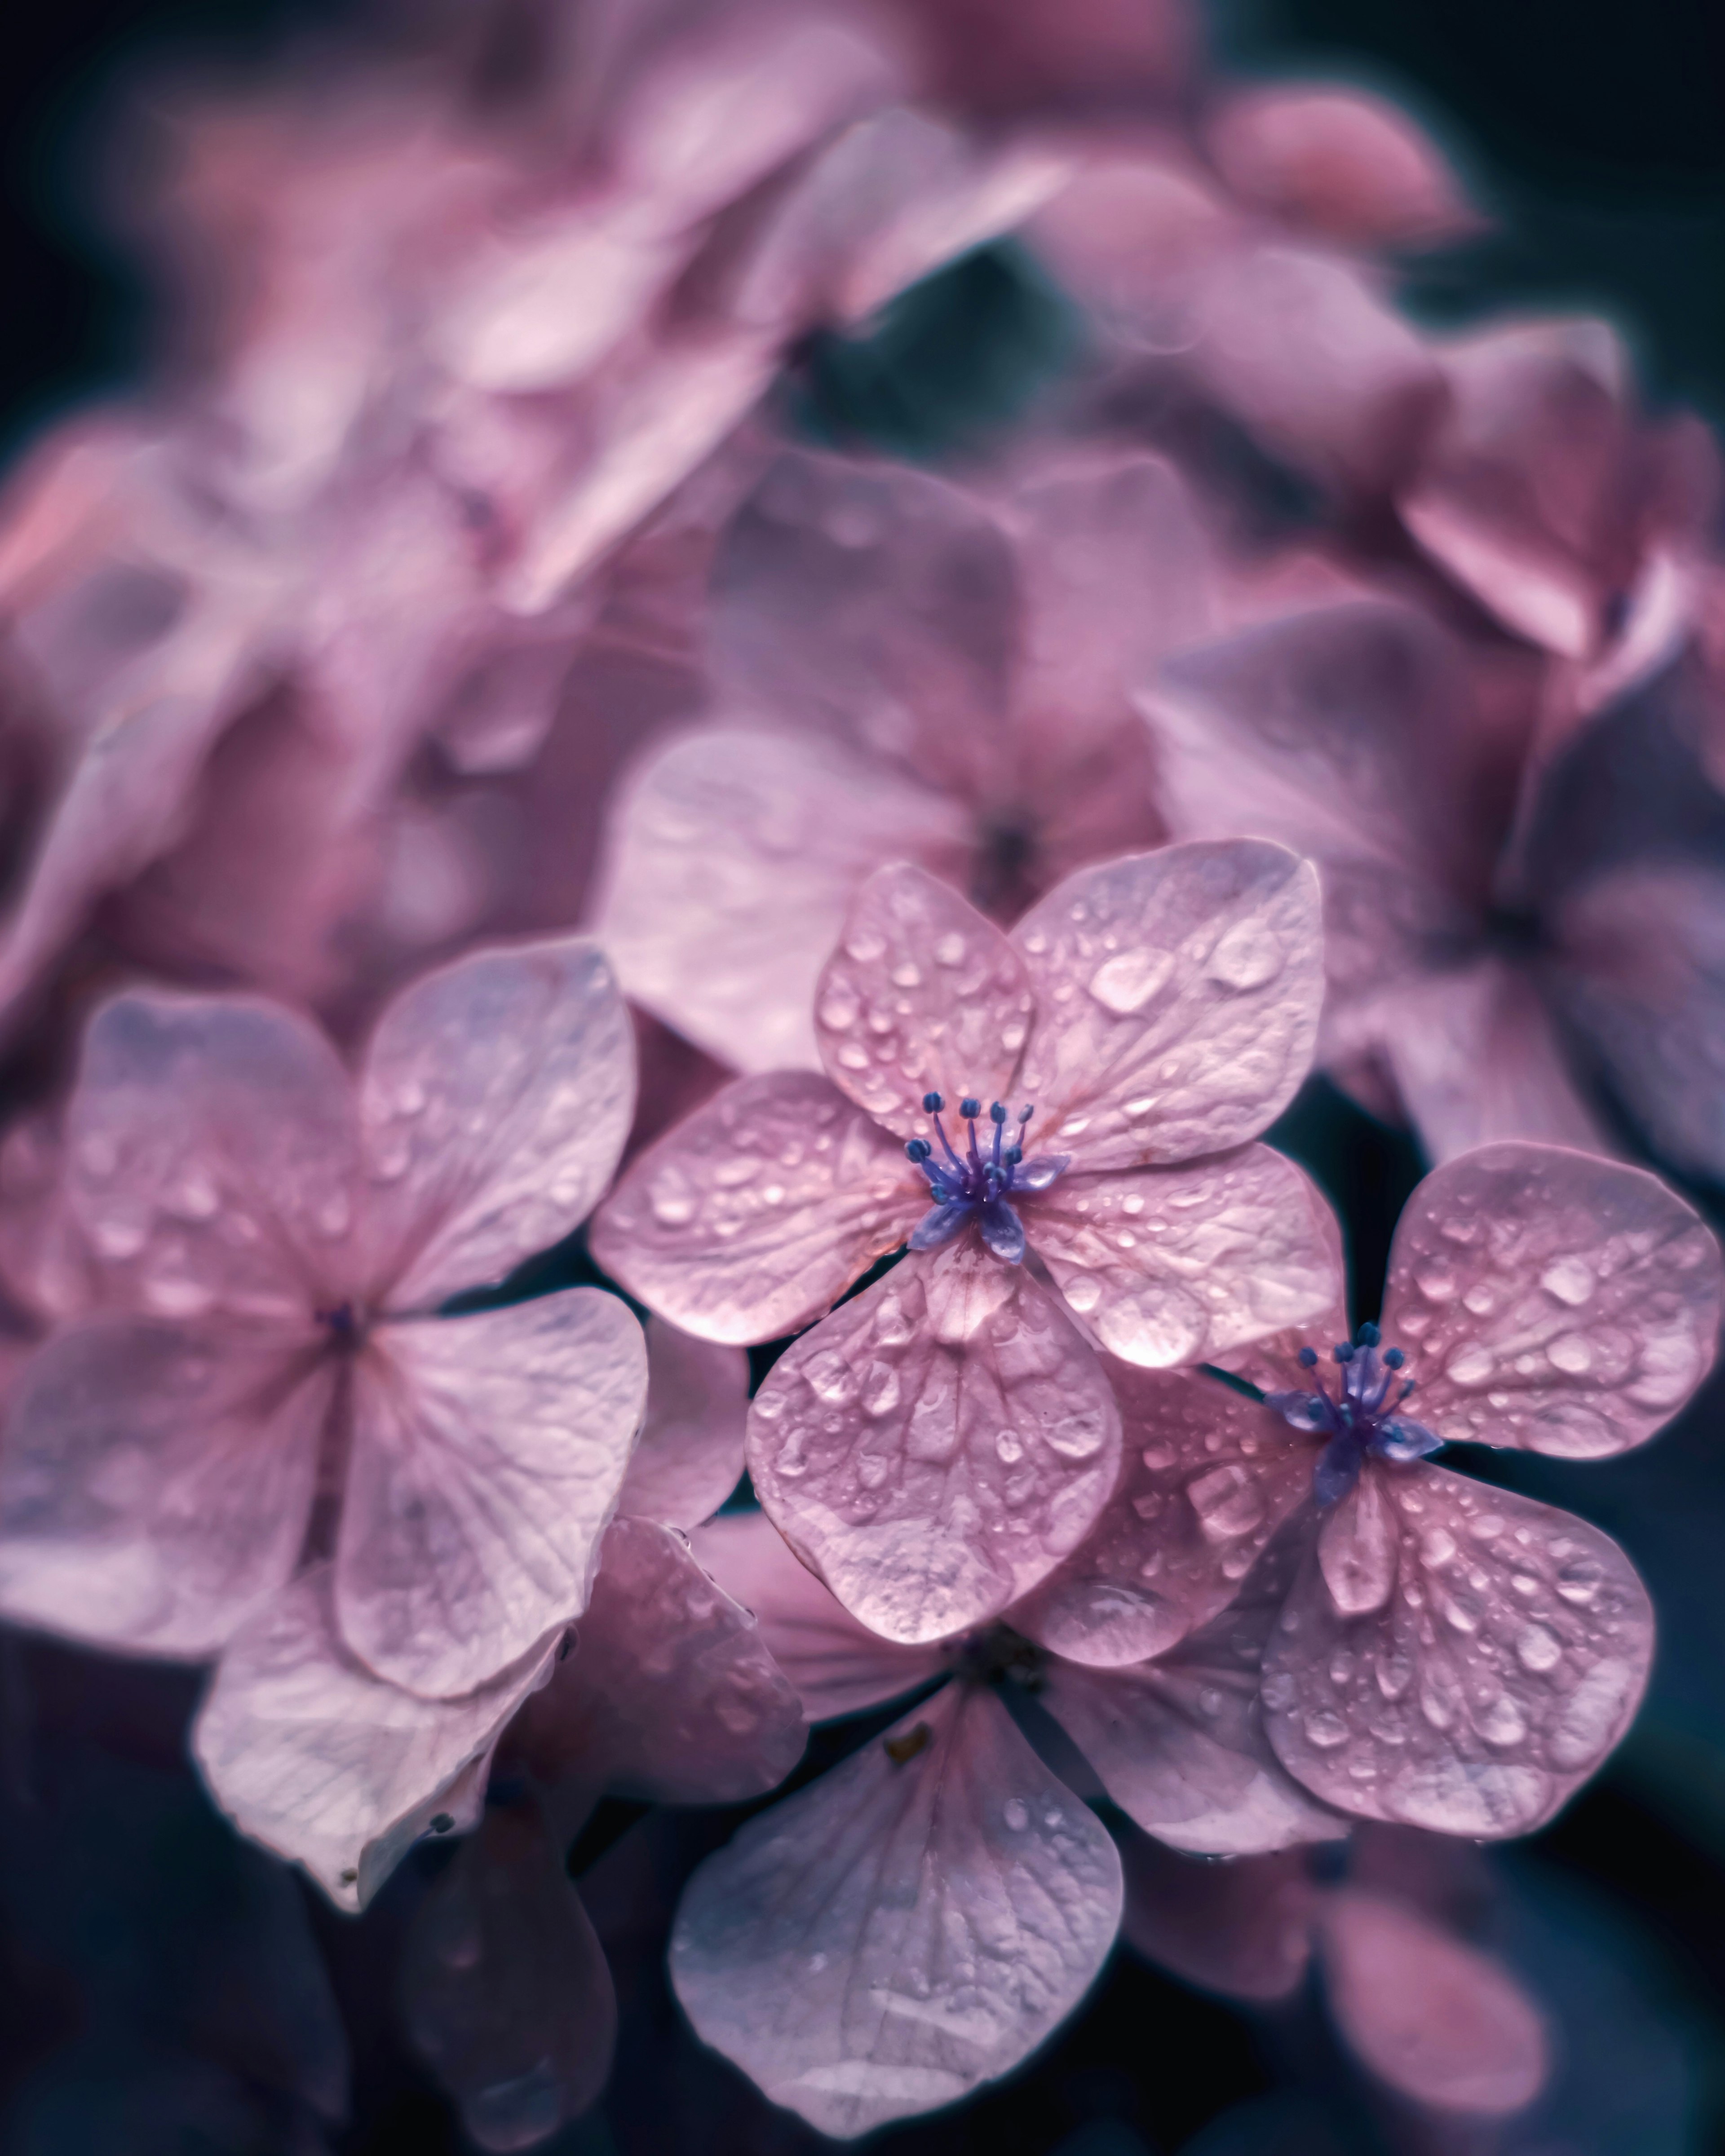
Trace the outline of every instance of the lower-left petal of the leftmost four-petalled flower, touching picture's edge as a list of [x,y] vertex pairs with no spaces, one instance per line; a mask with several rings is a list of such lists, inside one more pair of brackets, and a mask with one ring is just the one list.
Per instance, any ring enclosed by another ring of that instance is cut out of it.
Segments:
[[99,1647],[213,1654],[293,1570],[332,1401],[310,1335],[56,1335],[6,1416],[0,1608]]

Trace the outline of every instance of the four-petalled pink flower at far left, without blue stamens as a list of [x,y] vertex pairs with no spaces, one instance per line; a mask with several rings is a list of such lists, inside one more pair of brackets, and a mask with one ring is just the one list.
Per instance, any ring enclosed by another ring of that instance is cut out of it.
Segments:
[[323,1554],[347,1649],[408,1692],[530,1656],[586,1598],[640,1326],[595,1289],[438,1311],[589,1212],[632,1102],[627,1011],[582,940],[423,979],[358,1082],[276,1005],[106,1003],[67,1110],[101,1309],[11,1404],[6,1615],[207,1656]]

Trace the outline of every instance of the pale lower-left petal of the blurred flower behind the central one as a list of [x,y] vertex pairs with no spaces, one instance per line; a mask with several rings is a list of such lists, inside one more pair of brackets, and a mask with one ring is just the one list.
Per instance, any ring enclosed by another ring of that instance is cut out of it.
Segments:
[[599,934],[627,994],[746,1072],[817,1063],[811,1007],[858,884],[960,858],[968,815],[841,744],[733,727],[671,742],[612,808]]

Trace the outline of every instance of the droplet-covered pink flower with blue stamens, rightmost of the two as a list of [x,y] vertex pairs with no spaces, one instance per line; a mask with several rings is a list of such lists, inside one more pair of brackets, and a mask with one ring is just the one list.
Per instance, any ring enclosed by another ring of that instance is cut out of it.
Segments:
[[1322,1356],[1289,1332],[1231,1358],[1261,1406],[1199,1376],[1126,1382],[1143,1449],[1050,1589],[1059,1630],[1022,1623],[1108,1664],[1089,1611],[1123,1600],[1134,1641],[1162,1617],[1132,1606],[1149,1580],[1175,1621],[1203,1613],[1289,1522],[1305,1557],[1264,1658],[1289,1774],[1356,1818],[1524,1835],[1628,1729],[1654,1613],[1598,1529],[1430,1455],[1641,1445],[1710,1369],[1719,1309],[1719,1246],[1652,1175],[1524,1143],[1466,1153],[1408,1201],[1382,1330],[1341,1339],[1337,1304],[1307,1335]]

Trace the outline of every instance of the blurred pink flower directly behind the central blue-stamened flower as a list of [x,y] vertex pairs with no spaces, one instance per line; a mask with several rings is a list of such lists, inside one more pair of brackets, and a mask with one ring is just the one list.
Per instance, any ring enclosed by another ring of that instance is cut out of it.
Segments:
[[1212,584],[1154,457],[1048,451],[970,494],[783,453],[714,561],[714,718],[612,806],[627,994],[737,1069],[815,1065],[815,979],[882,862],[1016,918],[1156,843],[1128,688],[1218,619]]

